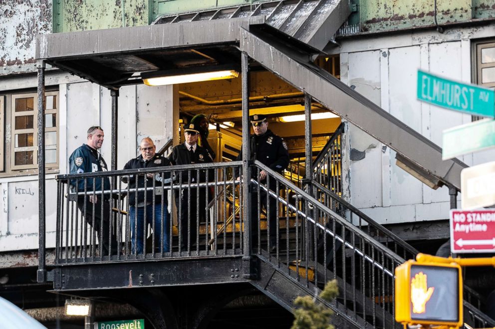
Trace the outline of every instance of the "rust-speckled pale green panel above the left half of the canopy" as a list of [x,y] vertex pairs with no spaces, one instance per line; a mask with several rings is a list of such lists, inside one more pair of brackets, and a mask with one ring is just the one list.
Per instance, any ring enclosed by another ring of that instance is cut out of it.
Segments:
[[55,32],[147,25],[149,0],[63,0],[55,3]]

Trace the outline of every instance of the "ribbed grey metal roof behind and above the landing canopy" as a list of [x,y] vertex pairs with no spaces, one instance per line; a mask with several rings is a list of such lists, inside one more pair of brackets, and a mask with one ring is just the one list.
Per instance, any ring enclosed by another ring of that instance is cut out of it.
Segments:
[[164,15],[153,24],[265,16],[267,24],[322,51],[350,13],[349,0],[277,0]]

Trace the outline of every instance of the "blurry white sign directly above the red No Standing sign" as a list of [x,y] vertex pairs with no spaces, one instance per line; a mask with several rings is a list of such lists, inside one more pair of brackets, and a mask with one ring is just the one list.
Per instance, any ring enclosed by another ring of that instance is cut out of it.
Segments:
[[464,210],[495,205],[495,162],[461,171],[461,208]]

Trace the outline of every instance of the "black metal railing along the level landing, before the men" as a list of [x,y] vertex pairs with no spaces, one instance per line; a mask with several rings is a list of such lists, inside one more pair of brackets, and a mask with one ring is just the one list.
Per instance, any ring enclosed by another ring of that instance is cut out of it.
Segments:
[[242,254],[241,165],[58,175],[56,263]]

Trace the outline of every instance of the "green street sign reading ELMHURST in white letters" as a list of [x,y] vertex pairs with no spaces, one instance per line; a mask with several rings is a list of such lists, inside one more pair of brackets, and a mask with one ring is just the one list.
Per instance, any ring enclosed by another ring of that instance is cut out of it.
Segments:
[[449,110],[495,117],[495,93],[418,70],[418,100]]

